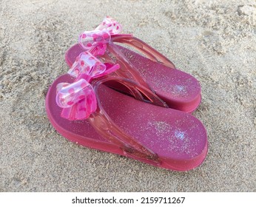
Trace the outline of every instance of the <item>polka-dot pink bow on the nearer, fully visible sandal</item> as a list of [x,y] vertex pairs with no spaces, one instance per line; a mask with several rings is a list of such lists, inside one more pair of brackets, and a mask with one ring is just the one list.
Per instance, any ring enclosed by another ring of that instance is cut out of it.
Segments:
[[81,52],[68,71],[76,78],[73,84],[57,85],[56,103],[63,108],[61,117],[70,121],[89,118],[97,109],[97,99],[90,81],[116,69],[119,69],[118,64],[102,64],[90,52]]

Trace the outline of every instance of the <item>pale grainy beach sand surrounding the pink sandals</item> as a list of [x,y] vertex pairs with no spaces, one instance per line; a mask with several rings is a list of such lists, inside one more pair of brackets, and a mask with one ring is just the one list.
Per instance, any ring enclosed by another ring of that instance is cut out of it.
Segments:
[[[112,2],[112,3],[110,3]],[[116,18],[198,78],[209,154],[172,172],[87,149],[53,129],[47,89],[64,53]],[[256,191],[255,1],[1,1],[0,191]]]

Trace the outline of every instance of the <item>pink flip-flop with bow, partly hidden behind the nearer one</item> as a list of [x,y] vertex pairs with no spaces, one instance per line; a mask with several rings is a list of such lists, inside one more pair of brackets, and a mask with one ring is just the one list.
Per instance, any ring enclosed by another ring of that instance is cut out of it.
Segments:
[[[98,58],[112,58],[120,64],[116,74],[131,79],[141,86],[151,89],[173,109],[193,112],[201,103],[201,86],[192,75],[175,69],[174,64],[132,35],[119,34],[121,25],[107,17],[92,31],[79,37],[79,43],[66,53],[67,64],[71,67],[75,58],[83,51],[90,51]],[[146,57],[122,47],[121,43],[132,47]]]

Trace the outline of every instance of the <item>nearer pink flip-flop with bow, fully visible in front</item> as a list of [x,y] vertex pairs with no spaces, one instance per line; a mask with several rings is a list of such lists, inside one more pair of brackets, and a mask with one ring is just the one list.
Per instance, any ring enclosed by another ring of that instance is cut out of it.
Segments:
[[[82,52],[69,74],[57,78],[47,92],[47,116],[70,141],[131,157],[153,166],[187,171],[207,153],[206,130],[197,118],[166,108],[151,90],[112,75],[119,65],[102,64]],[[112,73],[112,74],[110,74]],[[127,87],[136,99],[105,84]]]

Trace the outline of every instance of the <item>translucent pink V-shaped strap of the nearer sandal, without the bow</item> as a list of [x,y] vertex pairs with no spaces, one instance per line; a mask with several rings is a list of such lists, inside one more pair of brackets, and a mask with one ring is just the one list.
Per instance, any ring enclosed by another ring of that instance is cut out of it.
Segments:
[[107,112],[104,111],[103,106],[100,104],[101,102],[99,100],[97,90],[100,84],[103,84],[107,81],[116,81],[119,84],[123,84],[131,91],[138,90],[139,92],[143,93],[143,95],[146,96],[146,98],[148,98],[150,101],[156,102],[155,99],[158,99],[158,101],[161,102],[161,99],[158,98],[158,96],[152,93],[149,89],[146,89],[143,86],[139,86],[138,84],[135,84],[135,82],[126,78],[117,76],[102,78],[92,84],[95,90],[96,98],[98,100],[98,108],[92,115],[90,115],[90,118],[87,120],[90,121],[98,134],[102,135],[107,140],[111,140],[112,143],[121,146],[121,149],[123,149],[129,157],[137,157],[141,160],[146,160],[149,163],[160,163],[161,161],[155,152],[152,152],[152,150],[143,146],[135,138],[127,135],[126,132],[124,132],[111,120],[111,118],[107,115]]

